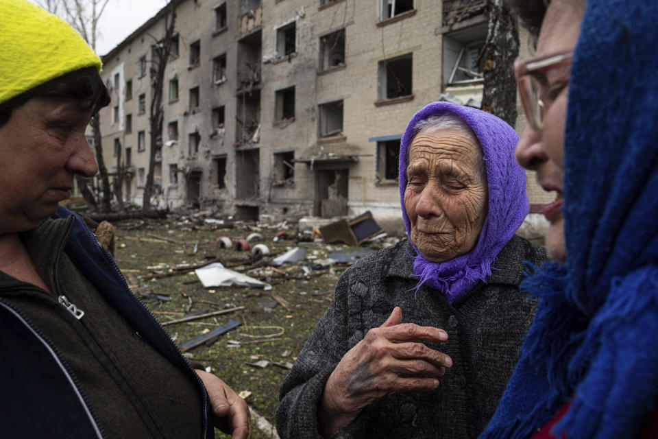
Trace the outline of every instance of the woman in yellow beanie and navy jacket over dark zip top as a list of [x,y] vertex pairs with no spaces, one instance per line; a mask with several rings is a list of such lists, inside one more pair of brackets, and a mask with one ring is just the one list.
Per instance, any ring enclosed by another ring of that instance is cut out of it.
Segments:
[[195,371],[82,219],[58,202],[97,170],[110,101],[77,32],[0,0],[0,425],[11,438],[249,437],[247,406]]

